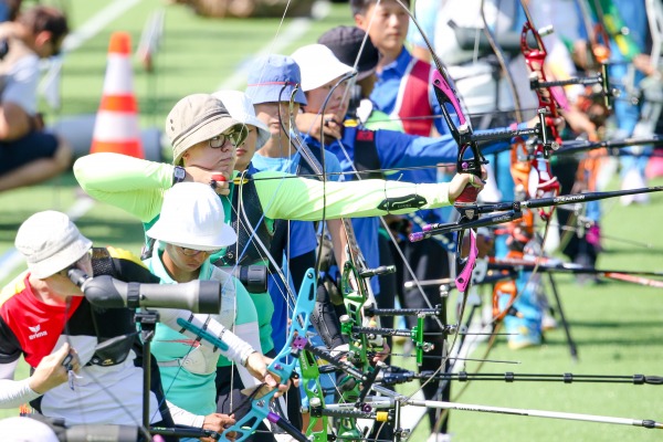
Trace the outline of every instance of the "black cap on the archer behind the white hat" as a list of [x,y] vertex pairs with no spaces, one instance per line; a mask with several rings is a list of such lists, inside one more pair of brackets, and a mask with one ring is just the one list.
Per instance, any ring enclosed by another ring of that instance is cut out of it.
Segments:
[[[366,43],[364,43],[365,39]],[[380,53],[377,48],[370,39],[366,38],[366,32],[357,27],[333,28],[320,35],[318,43],[329,48],[338,60],[349,66],[354,66],[355,62],[357,62],[357,54],[359,54],[359,50],[364,43],[364,50],[357,63],[357,71],[359,72],[357,80],[361,80],[367,74],[372,73],[380,60]]]

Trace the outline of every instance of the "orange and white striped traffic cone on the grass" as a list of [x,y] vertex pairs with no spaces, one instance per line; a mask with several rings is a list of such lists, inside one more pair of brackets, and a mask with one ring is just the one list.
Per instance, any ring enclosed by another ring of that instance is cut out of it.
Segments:
[[131,38],[110,35],[104,95],[97,112],[90,151],[116,152],[145,158],[138,128],[138,106],[131,74]]

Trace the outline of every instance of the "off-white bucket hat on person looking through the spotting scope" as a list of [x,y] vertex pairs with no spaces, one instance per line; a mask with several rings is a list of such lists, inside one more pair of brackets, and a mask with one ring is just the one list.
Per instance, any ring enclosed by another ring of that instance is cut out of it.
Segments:
[[69,267],[92,248],[69,217],[46,210],[34,213],[19,228],[14,245],[32,276],[43,280]]

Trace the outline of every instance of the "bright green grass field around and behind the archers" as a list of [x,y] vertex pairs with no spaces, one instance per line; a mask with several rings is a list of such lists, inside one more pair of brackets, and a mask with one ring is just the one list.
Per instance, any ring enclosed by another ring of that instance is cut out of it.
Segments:
[[[77,29],[113,1],[66,2],[73,28]],[[347,4],[332,6],[318,21],[278,19],[209,20],[193,15],[181,6],[143,0],[94,33],[78,49],[65,55],[62,81],[63,105],[59,112],[44,107],[49,122],[61,116],[96,112],[101,99],[106,49],[113,31],[131,33],[136,46],[148,15],[164,8],[165,35],[156,57],[156,72],[148,74],[135,63],[135,88],[144,127],[161,126],[166,114],[180,97],[196,92],[212,92],[257,51],[290,54],[298,45],[313,43],[325,30],[349,24]],[[294,23],[294,24],[292,24]],[[292,28],[288,28],[292,25]],[[299,32],[286,41],[287,32]],[[272,46],[270,46],[272,44]],[[276,48],[276,50],[270,50]],[[240,78],[241,82],[241,78]],[[234,87],[243,87],[238,84]],[[654,182],[663,185],[662,180]],[[2,261],[10,251],[20,223],[39,210],[67,211],[80,199],[75,180],[64,175],[40,186],[0,193],[0,271],[9,265]],[[663,269],[663,235],[660,234],[663,196],[653,194],[649,206],[622,208],[607,202],[603,233],[649,242],[651,249],[617,241],[604,241],[606,252],[599,266],[660,271]],[[84,234],[96,244],[113,244],[139,252],[143,240],[140,224],[122,211],[96,203],[77,221]],[[0,284],[22,271],[12,267]],[[519,366],[490,365],[487,372],[545,372],[591,375],[660,375],[663,350],[663,303],[661,290],[610,282],[596,286],[577,286],[572,277],[558,277],[571,334],[578,344],[579,362],[568,354],[564,333],[546,334],[546,344],[538,348],[512,351],[498,341],[490,357],[518,360]],[[480,347],[475,356],[483,354]],[[410,362],[411,364],[411,362]],[[467,364],[467,371],[474,365]],[[24,370],[19,376],[27,376]],[[457,391],[457,388],[455,388]],[[496,407],[530,408],[588,414],[606,414],[633,419],[663,420],[661,394],[655,386],[629,385],[561,385],[473,382],[461,402]],[[15,410],[0,410],[0,417]],[[409,424],[409,422],[408,422]],[[655,430],[598,423],[505,417],[477,412],[452,412],[451,431],[457,441],[654,441]],[[428,424],[422,423],[412,441],[428,438]],[[1,439],[1,438],[0,438]]]

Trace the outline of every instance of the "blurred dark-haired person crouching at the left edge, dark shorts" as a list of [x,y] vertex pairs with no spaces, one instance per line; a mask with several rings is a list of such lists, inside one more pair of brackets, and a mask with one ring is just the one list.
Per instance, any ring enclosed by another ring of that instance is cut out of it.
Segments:
[[43,130],[36,112],[39,60],[57,55],[67,32],[64,14],[41,6],[0,25],[0,191],[70,167],[71,148]]

